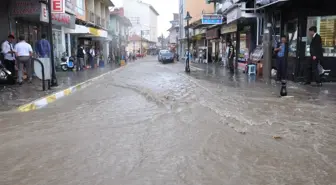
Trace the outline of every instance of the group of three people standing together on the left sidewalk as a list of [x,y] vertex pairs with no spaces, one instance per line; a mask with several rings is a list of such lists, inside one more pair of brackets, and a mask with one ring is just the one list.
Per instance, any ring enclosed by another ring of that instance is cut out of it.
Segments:
[[[42,39],[36,42],[35,50],[39,58],[49,57],[50,43],[46,40],[46,34],[42,34]],[[21,85],[23,83],[24,74],[27,75],[28,82],[33,78],[32,57],[34,54],[33,47],[26,42],[25,36],[19,36],[18,42],[14,42],[15,36],[10,34],[7,40],[1,45],[1,61],[6,69],[8,69],[16,82]]]

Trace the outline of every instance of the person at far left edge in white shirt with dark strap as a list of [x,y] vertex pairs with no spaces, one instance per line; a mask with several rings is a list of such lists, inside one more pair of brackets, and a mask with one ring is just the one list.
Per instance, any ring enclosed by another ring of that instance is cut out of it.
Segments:
[[1,51],[3,54],[3,62],[6,69],[8,69],[12,76],[15,77],[15,51],[13,47],[14,35],[8,35],[7,40],[2,43]]

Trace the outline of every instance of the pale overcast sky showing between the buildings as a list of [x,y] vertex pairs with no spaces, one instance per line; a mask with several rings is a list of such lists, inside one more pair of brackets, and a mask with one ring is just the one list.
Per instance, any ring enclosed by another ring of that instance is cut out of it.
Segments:
[[[116,7],[122,5],[123,0],[111,0]],[[173,13],[178,13],[178,0],[143,0],[151,4],[160,14],[158,17],[158,35],[163,33],[168,35],[167,29],[170,28],[170,22],[173,19]]]

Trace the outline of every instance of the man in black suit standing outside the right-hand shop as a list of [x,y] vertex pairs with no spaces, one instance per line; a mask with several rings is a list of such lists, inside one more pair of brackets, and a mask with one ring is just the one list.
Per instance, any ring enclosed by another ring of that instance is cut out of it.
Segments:
[[307,78],[306,85],[310,84],[313,76],[315,76],[315,81],[318,86],[322,86],[320,74],[318,71],[318,64],[322,62],[323,59],[323,48],[322,48],[322,40],[321,36],[316,33],[316,26],[312,26],[309,28],[309,35],[312,37],[312,41],[310,43],[310,56],[311,59],[308,61],[307,66]]

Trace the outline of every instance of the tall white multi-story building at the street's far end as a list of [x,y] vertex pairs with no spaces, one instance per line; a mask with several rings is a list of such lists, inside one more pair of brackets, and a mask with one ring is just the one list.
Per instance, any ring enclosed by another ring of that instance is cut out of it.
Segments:
[[157,42],[159,13],[150,4],[141,0],[124,0],[125,16],[131,20],[130,34],[141,35],[152,42]]

